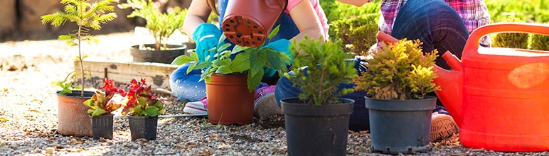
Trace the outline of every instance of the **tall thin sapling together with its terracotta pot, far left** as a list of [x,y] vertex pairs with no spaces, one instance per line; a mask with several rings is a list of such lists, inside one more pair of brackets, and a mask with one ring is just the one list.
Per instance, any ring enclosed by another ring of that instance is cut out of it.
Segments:
[[[68,35],[59,35],[59,40],[65,40],[69,46],[78,46],[78,56],[75,60],[80,62],[80,72],[71,72],[63,82],[55,82],[63,88],[61,91],[56,91],[58,96],[58,133],[63,135],[90,136],[92,135],[90,120],[87,117],[87,107],[82,103],[90,99],[94,94],[93,91],[84,91],[84,87],[73,86],[72,79],[80,78],[80,82],[84,84],[85,68],[82,64],[82,48],[80,45],[83,41],[99,41],[93,38],[89,30],[99,30],[101,23],[107,23],[117,17],[114,13],[114,6],[118,0],[100,0],[90,4],[88,0],[63,0],[61,4],[65,5],[65,12],[58,11],[52,14],[41,16],[43,24],[50,23],[53,26],[61,26],[66,21],[76,23],[78,29],[74,33]],[[80,93],[76,93],[72,89],[80,88]]]

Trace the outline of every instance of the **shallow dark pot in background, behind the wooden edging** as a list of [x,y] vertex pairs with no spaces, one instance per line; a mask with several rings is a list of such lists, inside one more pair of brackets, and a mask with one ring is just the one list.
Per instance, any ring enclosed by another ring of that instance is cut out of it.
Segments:
[[[168,45],[170,50],[144,50],[139,49],[139,46],[141,45],[134,45],[129,50],[134,62],[157,62],[171,64],[176,57],[184,55],[186,51],[186,45]],[[154,48],[154,44],[146,44],[144,46]]]

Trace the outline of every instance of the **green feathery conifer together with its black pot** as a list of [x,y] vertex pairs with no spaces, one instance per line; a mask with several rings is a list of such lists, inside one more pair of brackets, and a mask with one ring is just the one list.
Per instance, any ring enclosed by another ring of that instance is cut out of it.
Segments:
[[[323,42],[305,37],[290,46],[295,56],[293,74],[284,76],[302,90],[299,97],[280,101],[284,113],[289,155],[345,155],[352,99],[339,89],[356,74],[354,62],[341,48],[341,40]],[[303,56],[297,56],[302,54]],[[307,68],[303,68],[307,67]]]

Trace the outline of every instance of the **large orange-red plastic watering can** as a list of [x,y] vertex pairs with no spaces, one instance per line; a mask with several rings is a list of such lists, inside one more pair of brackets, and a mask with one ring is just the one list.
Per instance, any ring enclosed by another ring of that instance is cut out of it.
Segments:
[[489,24],[469,35],[461,61],[442,55],[452,69],[435,66],[436,93],[459,126],[460,143],[506,152],[549,150],[549,52],[479,47],[490,33],[549,35],[549,26]]

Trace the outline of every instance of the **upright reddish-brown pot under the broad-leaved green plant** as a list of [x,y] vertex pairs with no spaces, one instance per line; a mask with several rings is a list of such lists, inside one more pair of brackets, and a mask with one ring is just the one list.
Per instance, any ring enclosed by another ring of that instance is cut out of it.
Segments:
[[253,122],[254,92],[247,89],[247,74],[212,74],[206,82],[206,98],[210,123]]

